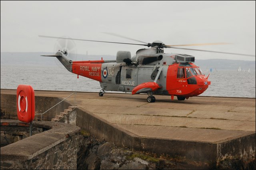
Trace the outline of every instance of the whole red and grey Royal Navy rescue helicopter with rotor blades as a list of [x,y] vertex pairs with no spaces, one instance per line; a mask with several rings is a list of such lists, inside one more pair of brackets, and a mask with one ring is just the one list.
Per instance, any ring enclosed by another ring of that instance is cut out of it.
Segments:
[[[112,34],[120,36],[118,34]],[[65,40],[80,40],[90,42],[106,42],[96,40],[84,40],[74,38],[63,38],[54,36],[39,36],[43,38],[56,38]],[[127,38],[134,40],[131,38]],[[138,40],[135,40],[138,41]],[[141,42],[141,41],[138,41]],[[136,55],[131,56],[130,51],[117,51],[116,60],[89,60],[72,61],[68,58],[66,49],[58,50],[54,55],[41,55],[56,57],[64,67],[77,75],[77,78],[84,76],[100,82],[99,96],[102,97],[106,91],[130,92],[132,95],[144,93],[147,94],[147,101],[154,103],[154,95],[168,95],[171,100],[174,96],[179,101],[202,94],[211,84],[208,76],[204,74],[199,66],[194,64],[195,57],[180,53],[164,53],[164,48],[188,49],[176,46],[190,45],[216,45],[226,43],[204,43],[204,44],[186,44],[186,45],[165,45],[156,40],[152,43],[141,42],[120,43],[131,45],[143,45],[149,48],[138,49]],[[200,49],[188,49],[196,51],[208,51]],[[226,53],[219,51],[208,51],[216,53]],[[228,53],[235,55],[247,55],[238,53]],[[254,56],[254,55],[249,55]]]

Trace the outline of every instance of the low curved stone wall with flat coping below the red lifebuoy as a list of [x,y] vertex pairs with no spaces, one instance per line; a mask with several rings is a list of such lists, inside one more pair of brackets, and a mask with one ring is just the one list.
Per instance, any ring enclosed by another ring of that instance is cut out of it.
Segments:
[[[1,131],[20,123],[1,120]],[[79,127],[49,121],[33,121],[33,127],[49,130],[2,147],[1,169],[76,169]]]

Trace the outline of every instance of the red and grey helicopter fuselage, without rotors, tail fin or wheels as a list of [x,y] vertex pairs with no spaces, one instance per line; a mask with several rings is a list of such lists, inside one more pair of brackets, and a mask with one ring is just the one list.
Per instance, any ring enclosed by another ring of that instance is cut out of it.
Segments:
[[[136,65],[104,60],[72,61],[70,71],[99,81],[105,91],[132,92],[135,87],[143,83],[155,82],[159,87],[152,91],[153,94],[171,95],[172,98],[200,95],[208,88],[210,81],[194,63],[175,61],[176,55],[174,53],[137,54],[131,59],[137,63]],[[152,83],[150,85],[152,86]],[[144,89],[147,88],[153,89],[145,85]],[[143,90],[141,91],[143,93]]]

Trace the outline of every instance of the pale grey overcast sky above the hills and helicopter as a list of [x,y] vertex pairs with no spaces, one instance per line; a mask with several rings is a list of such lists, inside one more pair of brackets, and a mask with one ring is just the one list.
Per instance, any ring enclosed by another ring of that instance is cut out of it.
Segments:
[[[232,43],[187,46],[187,48],[255,55],[255,1],[2,1],[1,52],[52,52],[55,39],[139,43],[102,32],[140,40],[160,40],[166,45]],[[90,55],[132,55],[144,46],[75,41],[76,52]],[[241,59],[255,57],[182,49],[196,59]]]

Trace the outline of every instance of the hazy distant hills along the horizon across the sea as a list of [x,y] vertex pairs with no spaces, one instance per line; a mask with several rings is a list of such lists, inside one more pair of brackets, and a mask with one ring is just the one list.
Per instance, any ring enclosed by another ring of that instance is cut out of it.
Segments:
[[[1,52],[1,65],[56,65],[59,61],[55,57],[43,57],[40,55],[51,55],[48,52]],[[81,55],[77,54],[73,60],[114,60],[114,55]],[[202,70],[207,68],[216,70],[237,70],[240,66],[246,71],[250,68],[255,71],[255,61],[230,60],[230,59],[196,59],[195,64],[200,66]]]

